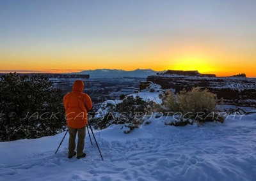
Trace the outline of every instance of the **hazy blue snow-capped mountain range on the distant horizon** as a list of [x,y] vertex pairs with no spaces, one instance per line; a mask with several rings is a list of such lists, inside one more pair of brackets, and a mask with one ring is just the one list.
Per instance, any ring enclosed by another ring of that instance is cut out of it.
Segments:
[[152,69],[135,69],[132,71],[125,71],[123,69],[95,69],[84,70],[76,74],[88,74],[90,78],[123,78],[123,77],[136,77],[147,78],[149,75],[155,75],[163,71],[154,71]]

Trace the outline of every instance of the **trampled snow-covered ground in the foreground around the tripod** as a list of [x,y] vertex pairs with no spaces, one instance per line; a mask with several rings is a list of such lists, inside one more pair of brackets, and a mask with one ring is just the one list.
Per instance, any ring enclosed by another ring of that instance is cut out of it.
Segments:
[[93,131],[104,161],[88,134],[84,159],[67,158],[68,135],[54,154],[65,132],[3,142],[0,180],[256,180],[256,113],[240,118],[173,127],[152,117],[129,134]]

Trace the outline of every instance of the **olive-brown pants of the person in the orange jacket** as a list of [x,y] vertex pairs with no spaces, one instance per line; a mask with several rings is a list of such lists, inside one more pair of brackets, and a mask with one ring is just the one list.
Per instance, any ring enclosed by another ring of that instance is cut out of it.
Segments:
[[85,126],[82,128],[68,127],[69,141],[68,141],[68,155],[72,156],[76,148],[76,134],[78,133],[77,140],[77,156],[83,155],[84,150],[84,138],[85,138]]

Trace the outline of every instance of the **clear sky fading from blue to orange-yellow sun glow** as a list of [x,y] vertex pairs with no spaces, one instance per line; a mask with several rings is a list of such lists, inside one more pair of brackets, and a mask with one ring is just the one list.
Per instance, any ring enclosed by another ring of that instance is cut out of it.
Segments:
[[0,1],[1,72],[256,76],[254,0]]

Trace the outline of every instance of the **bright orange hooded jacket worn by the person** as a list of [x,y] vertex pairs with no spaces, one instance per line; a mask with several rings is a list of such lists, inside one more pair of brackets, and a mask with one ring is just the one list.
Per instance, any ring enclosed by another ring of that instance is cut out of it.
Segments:
[[83,90],[83,81],[76,80],[72,92],[67,93],[63,98],[68,127],[81,128],[87,124],[87,110],[92,109],[92,101]]

